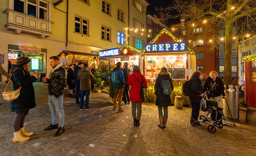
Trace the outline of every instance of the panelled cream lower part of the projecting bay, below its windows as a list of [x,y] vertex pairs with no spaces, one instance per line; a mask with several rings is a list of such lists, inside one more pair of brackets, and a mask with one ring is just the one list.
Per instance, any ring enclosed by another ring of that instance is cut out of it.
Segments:
[[37,35],[38,38],[52,35],[51,26],[54,22],[26,15],[11,9],[6,9],[3,13],[7,15],[6,30],[12,30],[14,34],[25,33]]

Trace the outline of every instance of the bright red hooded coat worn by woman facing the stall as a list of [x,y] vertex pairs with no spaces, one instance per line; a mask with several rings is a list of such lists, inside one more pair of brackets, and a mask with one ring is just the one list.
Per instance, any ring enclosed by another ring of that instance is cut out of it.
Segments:
[[[136,78],[138,78],[138,80],[140,82],[141,82],[141,76],[142,76],[144,85],[145,85],[146,88],[148,88],[147,80],[143,75],[141,75],[138,72],[134,72],[133,75],[136,76]],[[132,102],[141,102],[142,101],[141,96],[140,96],[141,85],[133,75],[130,75],[128,80],[127,80],[127,84],[131,85],[130,101],[132,101]]]

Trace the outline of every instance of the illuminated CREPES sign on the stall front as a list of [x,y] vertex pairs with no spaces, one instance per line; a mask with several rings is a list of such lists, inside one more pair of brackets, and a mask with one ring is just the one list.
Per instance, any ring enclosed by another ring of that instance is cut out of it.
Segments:
[[146,44],[145,52],[178,52],[187,51],[187,42],[167,42]]

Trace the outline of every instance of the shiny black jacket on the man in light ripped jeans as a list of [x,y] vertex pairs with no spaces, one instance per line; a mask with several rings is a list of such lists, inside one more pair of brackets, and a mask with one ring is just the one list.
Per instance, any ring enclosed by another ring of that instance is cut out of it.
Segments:
[[52,68],[46,83],[49,83],[49,95],[54,95],[56,98],[64,95],[64,89],[67,86],[67,71],[62,67],[61,63],[54,69]]

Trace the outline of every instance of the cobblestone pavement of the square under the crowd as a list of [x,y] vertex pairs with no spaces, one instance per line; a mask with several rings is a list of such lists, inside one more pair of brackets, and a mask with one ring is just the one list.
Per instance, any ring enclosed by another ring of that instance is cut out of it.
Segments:
[[[92,92],[90,110],[79,110],[74,99],[64,95],[65,132],[54,137],[55,130],[43,131],[51,124],[46,84],[35,84],[37,106],[25,118],[28,132],[34,132],[26,142],[12,143],[13,112],[10,104],[0,97],[0,155],[24,156],[255,156],[256,127],[245,123],[240,111],[237,127],[230,125],[211,134],[208,123],[193,127],[189,123],[191,108],[177,110],[168,107],[167,128],[157,126],[158,111],[153,104],[143,103],[141,124],[133,126],[131,105],[124,112],[112,111],[108,94]],[[3,92],[5,86],[0,86]],[[11,89],[11,86],[9,87]],[[201,115],[204,112],[200,112]]]

